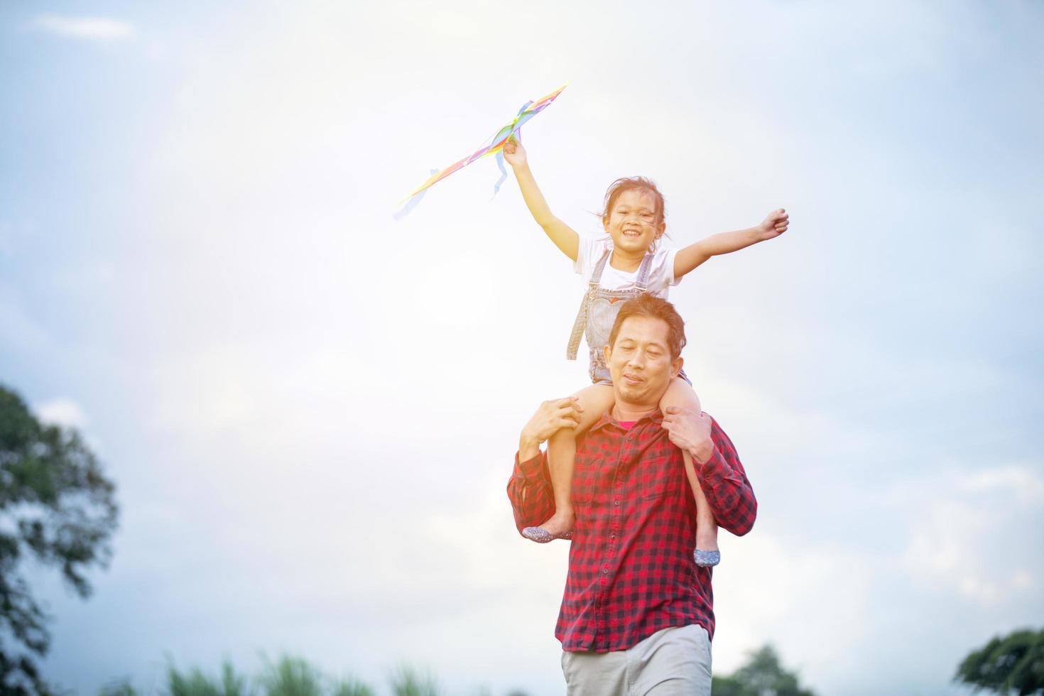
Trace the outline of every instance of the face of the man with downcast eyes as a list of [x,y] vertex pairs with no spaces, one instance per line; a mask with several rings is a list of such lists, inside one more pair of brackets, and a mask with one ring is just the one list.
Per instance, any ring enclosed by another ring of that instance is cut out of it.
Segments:
[[630,316],[620,325],[616,342],[606,346],[606,362],[616,400],[633,406],[656,406],[682,368],[671,359],[667,322],[649,316]]

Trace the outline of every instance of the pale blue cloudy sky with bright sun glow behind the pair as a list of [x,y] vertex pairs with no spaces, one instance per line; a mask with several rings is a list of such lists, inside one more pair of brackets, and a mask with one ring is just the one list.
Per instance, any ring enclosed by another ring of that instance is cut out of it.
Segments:
[[[0,383],[78,429],[120,528],[49,679],[296,654],[375,685],[564,691],[568,547],[504,487],[583,291],[482,160],[523,128],[585,235],[654,178],[668,242],[790,214],[671,290],[759,501],[714,671],[950,695],[1044,625],[1038,2],[0,5]],[[1035,309],[1037,308],[1037,309]]]

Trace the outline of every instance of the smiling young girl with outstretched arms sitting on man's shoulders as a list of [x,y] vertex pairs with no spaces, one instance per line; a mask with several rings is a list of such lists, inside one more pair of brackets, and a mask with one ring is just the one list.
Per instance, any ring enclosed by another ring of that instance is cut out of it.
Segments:
[[[636,176],[615,181],[606,192],[601,223],[608,238],[582,238],[551,213],[529,171],[522,144],[512,139],[504,144],[503,152],[515,170],[522,197],[533,219],[554,245],[572,259],[573,269],[588,281],[588,293],[570,336],[568,358],[576,358],[580,334],[586,334],[591,355],[589,374],[594,384],[574,394],[579,412],[576,426],[563,428],[547,443],[548,466],[554,488],[554,514],[540,527],[527,527],[522,532],[526,538],[546,544],[556,538],[572,537],[575,518],[570,494],[576,436],[593,426],[613,406],[613,383],[602,349],[609,341],[609,332],[619,306],[642,292],[651,292],[666,299],[671,285],[678,285],[686,273],[712,256],[737,251],[778,237],[786,232],[789,221],[786,212],[779,209],[755,227],[713,235],[679,250],[662,249],[657,242],[667,226],[663,196],[652,182]],[[699,399],[684,370],[671,381],[660,402],[660,410],[666,412],[668,406],[701,412]],[[696,549],[693,555],[699,566],[716,566],[721,558],[717,548],[717,524],[699,487],[692,458],[688,452],[683,451],[682,454],[685,473],[696,500]]]

